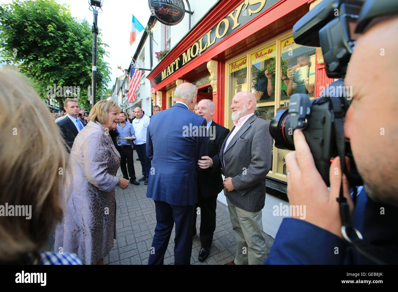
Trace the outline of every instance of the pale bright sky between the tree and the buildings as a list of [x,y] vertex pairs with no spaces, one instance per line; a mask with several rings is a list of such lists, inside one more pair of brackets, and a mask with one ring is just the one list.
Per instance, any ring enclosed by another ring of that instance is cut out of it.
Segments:
[[[93,12],[88,9],[90,7],[88,0],[56,1],[69,5],[72,16],[80,20],[86,19],[88,23],[93,22]],[[0,4],[11,2],[12,0],[0,0]],[[107,88],[111,88],[115,84],[115,79],[123,74],[117,66],[123,69],[129,68],[131,57],[143,34],[143,31],[140,32],[136,41],[130,46],[132,14],[145,27],[150,17],[150,10],[147,0],[104,0],[102,10],[103,13],[98,13],[98,27],[103,43],[110,46],[106,48],[109,57],[105,58],[105,62],[108,62],[111,68],[111,81],[107,85]]]

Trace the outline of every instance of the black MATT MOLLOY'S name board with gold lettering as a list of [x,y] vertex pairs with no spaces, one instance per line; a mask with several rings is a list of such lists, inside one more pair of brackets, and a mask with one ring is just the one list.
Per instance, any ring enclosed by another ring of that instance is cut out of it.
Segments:
[[161,74],[155,77],[157,84],[166,79],[169,75],[191,62],[194,58],[205,52],[222,39],[230,35],[233,31],[242,27],[250,20],[264,12],[278,0],[245,0],[223,19],[210,29],[199,40],[193,43],[183,52],[174,62],[169,64]]

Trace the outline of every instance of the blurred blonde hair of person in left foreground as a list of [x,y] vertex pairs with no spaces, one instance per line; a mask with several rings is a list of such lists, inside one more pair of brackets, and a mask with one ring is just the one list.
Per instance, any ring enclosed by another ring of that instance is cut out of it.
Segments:
[[68,153],[47,106],[12,70],[0,70],[0,136],[0,205],[31,206],[30,219],[0,216],[0,263],[29,263],[62,219]]

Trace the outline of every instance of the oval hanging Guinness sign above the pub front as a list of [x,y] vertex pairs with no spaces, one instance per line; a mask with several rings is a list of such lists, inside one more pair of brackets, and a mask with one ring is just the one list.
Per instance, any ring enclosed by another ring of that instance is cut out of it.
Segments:
[[185,14],[182,0],[148,0],[149,9],[154,17],[166,25],[176,25]]

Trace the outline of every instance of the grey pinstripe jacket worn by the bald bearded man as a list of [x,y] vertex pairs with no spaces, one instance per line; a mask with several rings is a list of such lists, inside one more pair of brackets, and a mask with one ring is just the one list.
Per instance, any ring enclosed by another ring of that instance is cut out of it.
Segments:
[[232,178],[234,191],[226,196],[236,207],[249,212],[263,209],[265,204],[265,176],[271,169],[273,140],[269,123],[256,115],[251,116],[234,135],[224,153],[225,138],[220,151],[220,161],[225,177]]

